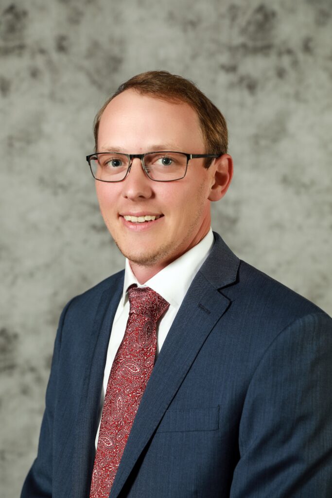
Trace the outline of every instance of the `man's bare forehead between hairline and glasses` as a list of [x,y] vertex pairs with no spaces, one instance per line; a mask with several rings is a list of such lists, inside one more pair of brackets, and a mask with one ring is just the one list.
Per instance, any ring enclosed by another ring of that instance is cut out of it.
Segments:
[[198,115],[187,103],[125,90],[111,100],[102,114],[98,149],[116,145],[139,153],[152,144],[200,153],[204,145]]

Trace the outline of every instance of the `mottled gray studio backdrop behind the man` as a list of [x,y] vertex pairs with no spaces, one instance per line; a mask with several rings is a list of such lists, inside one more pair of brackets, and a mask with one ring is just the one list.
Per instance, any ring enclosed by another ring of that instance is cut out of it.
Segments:
[[105,98],[166,69],[220,107],[235,176],[213,227],[332,312],[331,0],[0,0],[1,476],[36,454],[57,321],[123,267],[85,155]]

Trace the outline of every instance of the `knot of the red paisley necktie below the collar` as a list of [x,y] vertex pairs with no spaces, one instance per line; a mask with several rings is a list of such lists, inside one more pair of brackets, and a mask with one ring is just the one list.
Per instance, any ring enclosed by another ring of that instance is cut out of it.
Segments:
[[130,305],[129,313],[145,316],[155,323],[169,307],[166,299],[150,287],[131,285],[127,292]]

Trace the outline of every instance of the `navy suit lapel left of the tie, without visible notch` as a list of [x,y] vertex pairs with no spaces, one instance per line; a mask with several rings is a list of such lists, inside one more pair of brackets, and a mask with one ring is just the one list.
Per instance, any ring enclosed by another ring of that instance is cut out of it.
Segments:
[[73,451],[74,498],[89,496],[95,456],[95,436],[98,427],[98,407],[104,378],[104,368],[111,327],[123,289],[123,272],[101,296],[96,312],[87,358],[79,419]]

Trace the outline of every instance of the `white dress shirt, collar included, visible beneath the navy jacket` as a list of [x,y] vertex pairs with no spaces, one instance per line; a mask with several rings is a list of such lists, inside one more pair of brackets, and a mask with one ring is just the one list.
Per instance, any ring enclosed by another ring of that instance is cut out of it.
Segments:
[[97,449],[100,422],[102,417],[102,410],[104,404],[104,398],[106,393],[107,384],[109,381],[109,376],[111,372],[111,366],[113,364],[116,352],[121,344],[124,336],[124,331],[126,328],[128,316],[129,316],[129,300],[127,295],[127,289],[130,285],[136,284],[137,287],[150,287],[155,292],[158,292],[167,302],[169,302],[169,308],[164,313],[163,317],[157,324],[157,353],[158,356],[162,345],[166,339],[169,329],[173,323],[173,320],[182,304],[182,301],[192,283],[196,273],[208,257],[212,246],[214,245],[214,236],[212,229],[207,233],[204,239],[201,240],[199,244],[194,246],[189,251],[182,254],[170,263],[168,266],[163,268],[161,271],[156,273],[150,280],[147,280],[144,284],[139,284],[136,280],[135,275],[132,272],[130,263],[128,259],[125,260],[125,271],[124,271],[124,282],[123,291],[120,302],[118,304],[112,330],[111,337],[107,352],[106,365],[104,370],[104,381],[101,394],[100,402],[100,413],[99,413],[99,425],[96,435],[95,446]]

